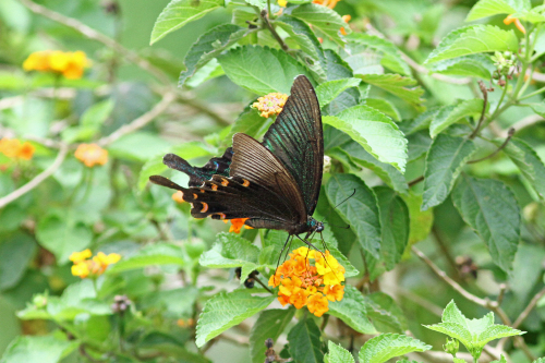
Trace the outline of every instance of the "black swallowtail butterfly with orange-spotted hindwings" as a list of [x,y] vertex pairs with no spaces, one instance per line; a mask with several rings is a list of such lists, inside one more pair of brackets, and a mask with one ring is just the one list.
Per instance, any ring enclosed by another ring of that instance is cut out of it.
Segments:
[[306,232],[304,240],[324,230],[312,217],[324,168],[322,114],[304,75],[295,78],[291,96],[263,143],[237,133],[232,148],[203,168],[173,154],[166,155],[164,162],[189,174],[190,187],[160,176],[149,180],[182,191],[195,218],[249,218],[246,226],[286,230],[290,237]]

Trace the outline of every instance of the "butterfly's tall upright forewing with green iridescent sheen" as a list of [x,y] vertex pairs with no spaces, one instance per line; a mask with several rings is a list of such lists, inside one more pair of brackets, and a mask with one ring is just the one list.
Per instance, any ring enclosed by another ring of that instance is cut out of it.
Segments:
[[324,170],[324,135],[318,98],[305,75],[291,87],[282,111],[263,138],[296,181],[306,213],[312,216],[319,196]]

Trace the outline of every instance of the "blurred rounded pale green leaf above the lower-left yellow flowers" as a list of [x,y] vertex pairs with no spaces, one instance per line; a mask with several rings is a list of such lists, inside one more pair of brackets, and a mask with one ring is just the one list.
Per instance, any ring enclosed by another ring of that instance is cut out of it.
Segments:
[[39,244],[55,254],[59,264],[69,261],[72,252],[85,250],[93,240],[93,231],[75,220],[74,213],[49,213],[36,228]]

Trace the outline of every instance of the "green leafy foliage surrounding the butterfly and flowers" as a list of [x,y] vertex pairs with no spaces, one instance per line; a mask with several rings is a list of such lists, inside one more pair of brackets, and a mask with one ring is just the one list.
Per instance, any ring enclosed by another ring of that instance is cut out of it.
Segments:
[[[36,153],[0,154],[0,362],[263,362],[267,338],[282,359],[308,363],[413,352],[399,362],[543,361],[544,10],[526,0],[334,10],[298,0],[281,13],[265,0],[2,0],[0,136]],[[502,23],[509,14],[525,35]],[[93,65],[76,81],[25,73],[26,57],[45,49],[84,50]],[[289,93],[298,74],[315,84],[331,158],[314,217],[326,217],[348,277],[323,318],[281,310],[234,277],[257,269],[266,283],[283,232],[222,233],[147,182],[186,183],[161,164],[166,153],[202,165],[235,132],[263,136],[274,120],[250,105]],[[108,164],[77,161],[84,142],[104,146]],[[7,202],[56,159],[51,176]],[[81,280],[68,257],[86,247],[123,258]],[[114,295],[130,299],[124,314]],[[433,330],[461,342],[458,358]]]

